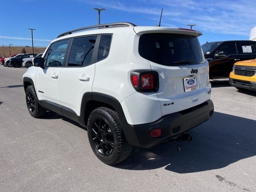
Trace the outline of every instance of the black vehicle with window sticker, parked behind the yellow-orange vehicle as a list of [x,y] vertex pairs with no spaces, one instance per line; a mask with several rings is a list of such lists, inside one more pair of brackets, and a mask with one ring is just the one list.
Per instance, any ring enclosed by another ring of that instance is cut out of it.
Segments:
[[209,42],[202,50],[209,62],[210,79],[228,78],[235,62],[256,58],[256,42],[249,40]]

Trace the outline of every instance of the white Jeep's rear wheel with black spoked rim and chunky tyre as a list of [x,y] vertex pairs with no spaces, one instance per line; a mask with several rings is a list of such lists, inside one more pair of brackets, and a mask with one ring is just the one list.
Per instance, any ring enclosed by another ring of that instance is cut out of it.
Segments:
[[108,165],[125,160],[132,152],[117,113],[106,107],[93,110],[88,118],[90,146],[99,160]]

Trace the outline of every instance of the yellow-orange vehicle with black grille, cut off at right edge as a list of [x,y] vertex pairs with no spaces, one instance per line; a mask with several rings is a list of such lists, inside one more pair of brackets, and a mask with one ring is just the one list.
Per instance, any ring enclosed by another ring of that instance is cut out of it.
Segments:
[[236,62],[229,75],[229,83],[238,90],[256,91],[256,59]]

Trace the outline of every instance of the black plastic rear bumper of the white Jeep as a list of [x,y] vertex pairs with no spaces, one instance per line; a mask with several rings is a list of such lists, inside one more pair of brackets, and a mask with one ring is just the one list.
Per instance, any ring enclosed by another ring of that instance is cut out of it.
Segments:
[[[133,137],[127,138],[129,144],[139,147],[152,147],[167,140],[171,140],[187,132],[188,130],[207,121],[214,112],[212,100],[208,100],[198,106],[188,108],[186,110],[168,114],[159,120],[140,125],[129,125],[130,132]],[[153,138],[150,135],[151,130],[161,129],[161,136]]]

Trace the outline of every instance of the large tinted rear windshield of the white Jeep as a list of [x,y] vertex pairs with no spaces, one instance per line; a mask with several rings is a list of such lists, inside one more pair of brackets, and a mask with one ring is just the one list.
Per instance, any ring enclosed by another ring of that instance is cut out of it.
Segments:
[[166,66],[205,62],[198,38],[183,34],[143,34],[139,40],[139,54],[147,60]]

